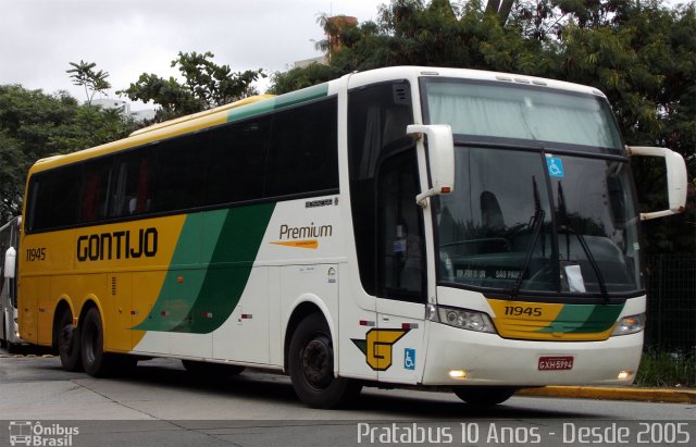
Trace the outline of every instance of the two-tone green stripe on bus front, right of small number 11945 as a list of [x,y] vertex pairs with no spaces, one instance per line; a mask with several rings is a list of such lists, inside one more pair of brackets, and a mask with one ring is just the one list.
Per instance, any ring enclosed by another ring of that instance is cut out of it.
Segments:
[[566,305],[556,320],[537,332],[598,334],[608,331],[624,305]]

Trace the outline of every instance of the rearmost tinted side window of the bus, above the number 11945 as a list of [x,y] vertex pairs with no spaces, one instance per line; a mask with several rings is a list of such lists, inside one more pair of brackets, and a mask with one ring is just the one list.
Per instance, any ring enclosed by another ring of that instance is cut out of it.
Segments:
[[32,176],[28,227],[58,228],[77,222],[80,166],[65,166]]

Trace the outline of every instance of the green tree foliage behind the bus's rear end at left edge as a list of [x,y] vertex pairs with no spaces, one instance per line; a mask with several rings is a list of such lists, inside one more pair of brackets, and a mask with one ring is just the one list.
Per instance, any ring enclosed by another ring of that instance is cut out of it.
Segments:
[[79,105],[66,92],[0,85],[0,224],[22,211],[26,173],[38,159],[113,141],[134,129],[117,111]]

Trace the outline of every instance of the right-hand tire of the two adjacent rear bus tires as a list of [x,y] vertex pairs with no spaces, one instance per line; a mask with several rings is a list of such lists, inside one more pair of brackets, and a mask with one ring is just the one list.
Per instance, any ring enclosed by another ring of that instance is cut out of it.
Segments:
[[79,323],[79,351],[85,372],[101,377],[112,372],[112,357],[104,353],[104,332],[97,308],[91,308]]

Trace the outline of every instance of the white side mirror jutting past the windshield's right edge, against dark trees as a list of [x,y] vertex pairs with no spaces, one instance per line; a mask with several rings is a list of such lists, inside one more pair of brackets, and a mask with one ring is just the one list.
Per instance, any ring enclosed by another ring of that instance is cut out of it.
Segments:
[[686,163],[679,153],[667,148],[652,148],[644,146],[626,146],[630,156],[661,157],[667,165],[667,191],[669,196],[669,210],[641,213],[641,220],[663,218],[684,211],[686,207]]

